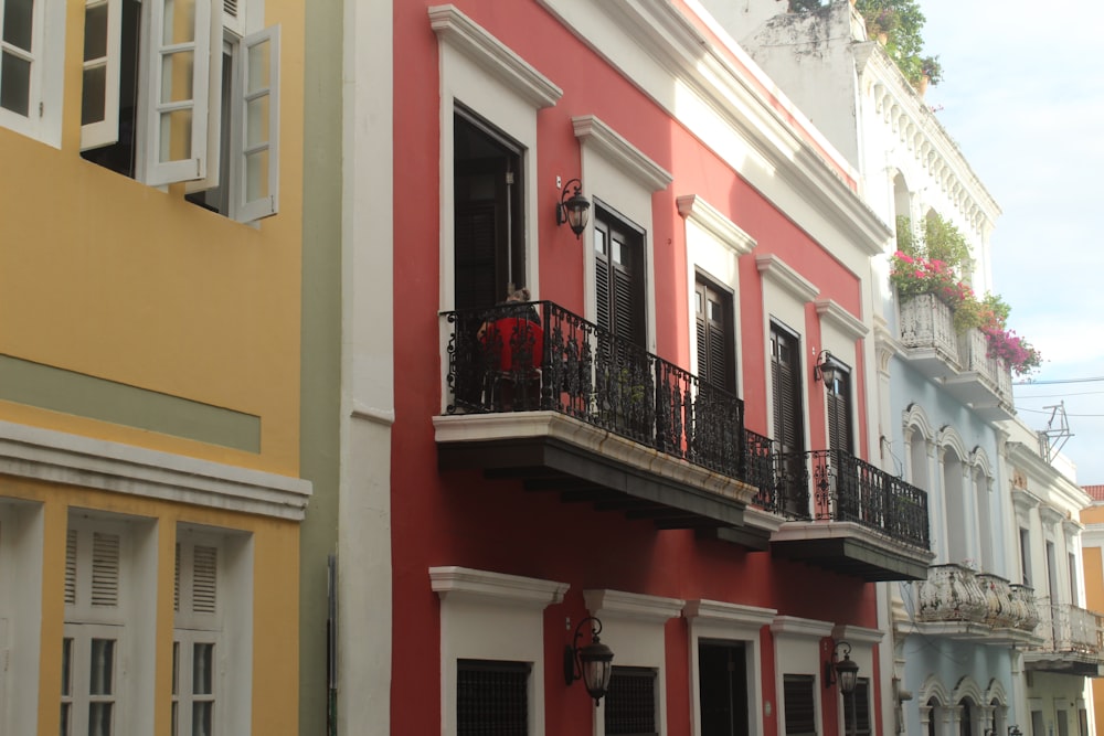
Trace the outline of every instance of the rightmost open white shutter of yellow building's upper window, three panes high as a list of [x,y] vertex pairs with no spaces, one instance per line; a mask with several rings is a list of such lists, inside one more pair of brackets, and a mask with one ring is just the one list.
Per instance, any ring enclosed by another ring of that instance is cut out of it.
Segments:
[[251,222],[279,209],[279,25],[246,36],[243,45],[234,218]]

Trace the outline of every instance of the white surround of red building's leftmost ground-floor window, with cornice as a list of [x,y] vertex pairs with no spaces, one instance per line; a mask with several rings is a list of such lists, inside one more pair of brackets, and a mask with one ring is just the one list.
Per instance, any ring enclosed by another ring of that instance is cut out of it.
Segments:
[[440,598],[440,733],[456,734],[459,660],[528,662],[529,734],[544,735],[544,609],[563,601],[566,583],[468,567],[431,567]]

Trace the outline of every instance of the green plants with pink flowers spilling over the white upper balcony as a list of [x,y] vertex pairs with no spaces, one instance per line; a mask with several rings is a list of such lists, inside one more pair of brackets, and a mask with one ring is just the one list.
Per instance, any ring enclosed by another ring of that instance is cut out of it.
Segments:
[[899,216],[898,250],[891,260],[890,281],[902,302],[932,295],[951,308],[955,331],[978,329],[985,335],[987,356],[1004,360],[1017,375],[1042,364],[1042,356],[1023,338],[1008,329],[1011,308],[998,295],[978,299],[963,278],[970,264],[966,238],[952,223],[933,214],[916,237],[909,218]]

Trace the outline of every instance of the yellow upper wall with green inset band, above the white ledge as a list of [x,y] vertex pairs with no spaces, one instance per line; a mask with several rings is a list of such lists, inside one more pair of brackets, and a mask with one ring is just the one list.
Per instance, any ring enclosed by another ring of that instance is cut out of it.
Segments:
[[301,0],[280,24],[279,213],[243,225],[79,156],[84,3],[61,150],[0,128],[0,354],[261,417],[259,454],[0,402],[0,420],[297,474]]

